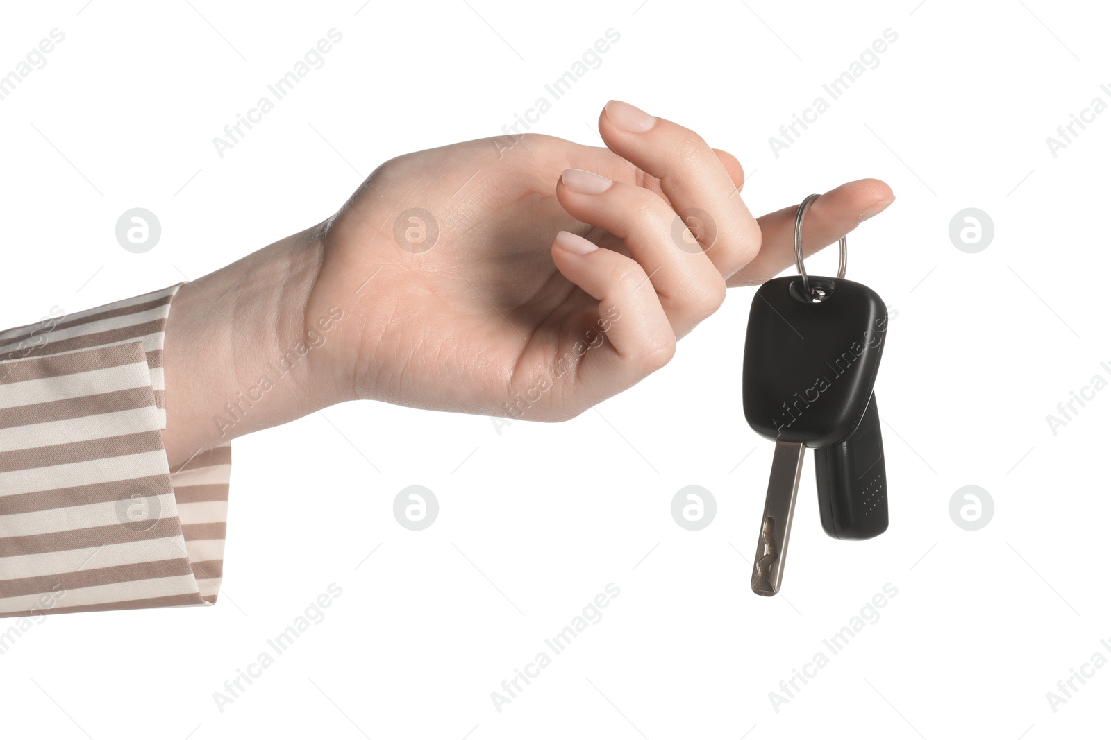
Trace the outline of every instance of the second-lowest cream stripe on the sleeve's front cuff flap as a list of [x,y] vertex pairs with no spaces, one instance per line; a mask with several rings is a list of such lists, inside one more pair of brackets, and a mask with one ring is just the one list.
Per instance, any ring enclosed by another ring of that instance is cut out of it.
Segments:
[[[58,553],[36,553],[33,555],[13,555],[0,558],[0,578],[31,578],[33,576],[50,576],[54,574],[84,570],[86,568],[109,568],[111,566],[131,562],[149,562],[167,560],[188,555],[190,560],[213,560],[222,557],[222,547],[216,550],[202,546],[193,555],[180,536],[143,539],[139,541],[118,543],[116,545],[97,545],[80,547]],[[222,543],[223,540],[209,540]],[[212,555],[217,553],[216,555]]]

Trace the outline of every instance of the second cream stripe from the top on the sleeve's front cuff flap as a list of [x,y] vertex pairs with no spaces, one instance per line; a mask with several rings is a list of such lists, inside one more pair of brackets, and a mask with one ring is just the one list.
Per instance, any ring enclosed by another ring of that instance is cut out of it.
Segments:
[[[3,453],[11,453],[18,459],[22,452],[23,456],[30,456],[37,449],[58,449],[72,446],[76,443],[91,443],[97,439],[118,438],[122,433],[156,433],[161,439],[162,425],[159,422],[158,409],[153,405],[141,408],[130,408],[126,410],[112,412],[110,414],[97,414],[94,416],[80,416],[60,422],[46,422],[43,424],[28,424],[26,426],[0,429],[0,466],[3,465]],[[117,437],[109,437],[117,435]],[[126,448],[129,449],[130,448]],[[47,453],[51,459],[69,462],[67,455]],[[24,467],[20,465],[20,467]]]

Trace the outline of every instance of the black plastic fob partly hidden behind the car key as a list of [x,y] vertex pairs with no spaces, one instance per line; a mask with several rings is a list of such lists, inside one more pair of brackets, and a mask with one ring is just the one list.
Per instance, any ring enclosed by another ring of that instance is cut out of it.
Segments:
[[814,473],[827,535],[869,539],[887,530],[887,470],[874,392],[852,434],[814,450]]

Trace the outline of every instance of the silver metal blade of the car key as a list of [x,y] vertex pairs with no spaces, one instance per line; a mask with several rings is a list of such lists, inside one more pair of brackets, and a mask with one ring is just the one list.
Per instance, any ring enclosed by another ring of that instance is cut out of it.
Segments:
[[757,543],[757,556],[752,560],[753,594],[760,596],[779,594],[805,452],[807,447],[801,443],[775,443],[771,477],[768,479],[768,497],[764,499],[764,515],[760,520],[760,539]]

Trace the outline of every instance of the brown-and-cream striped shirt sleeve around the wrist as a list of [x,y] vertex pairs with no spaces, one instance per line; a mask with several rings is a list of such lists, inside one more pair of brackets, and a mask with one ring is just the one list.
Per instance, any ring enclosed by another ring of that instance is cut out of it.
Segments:
[[0,332],[0,617],[216,602],[230,443],[162,442],[182,285]]

